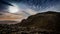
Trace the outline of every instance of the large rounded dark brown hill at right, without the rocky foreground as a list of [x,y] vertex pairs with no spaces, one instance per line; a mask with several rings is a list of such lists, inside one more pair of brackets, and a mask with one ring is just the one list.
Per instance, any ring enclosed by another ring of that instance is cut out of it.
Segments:
[[[56,31],[60,28],[60,13],[47,11],[29,16],[19,24],[23,27],[36,27]],[[60,31],[60,30],[59,30]]]

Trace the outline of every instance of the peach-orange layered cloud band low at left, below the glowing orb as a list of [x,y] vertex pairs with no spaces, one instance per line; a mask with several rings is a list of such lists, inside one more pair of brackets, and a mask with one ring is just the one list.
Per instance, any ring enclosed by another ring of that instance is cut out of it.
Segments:
[[22,19],[24,19],[23,14],[0,13],[0,21],[21,21]]

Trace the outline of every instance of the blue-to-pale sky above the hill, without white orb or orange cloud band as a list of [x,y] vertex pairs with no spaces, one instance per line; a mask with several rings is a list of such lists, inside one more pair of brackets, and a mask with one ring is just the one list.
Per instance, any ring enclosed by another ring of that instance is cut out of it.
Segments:
[[[60,0],[3,0],[17,6],[19,11],[16,14],[23,14],[25,17],[46,11],[60,12]],[[1,3],[0,12],[9,12],[10,5]]]

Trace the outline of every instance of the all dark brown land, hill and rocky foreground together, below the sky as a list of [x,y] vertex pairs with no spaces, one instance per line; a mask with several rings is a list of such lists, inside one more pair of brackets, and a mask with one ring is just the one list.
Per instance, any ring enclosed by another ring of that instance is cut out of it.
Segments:
[[17,24],[0,24],[0,34],[60,34],[60,13],[48,11]]

